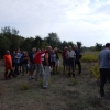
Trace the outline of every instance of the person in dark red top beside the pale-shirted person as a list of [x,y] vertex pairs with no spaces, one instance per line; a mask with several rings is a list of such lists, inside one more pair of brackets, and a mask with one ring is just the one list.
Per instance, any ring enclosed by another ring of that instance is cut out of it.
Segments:
[[66,69],[67,69],[66,52],[67,52],[67,46],[64,47],[64,51],[62,53],[62,57],[63,57],[63,73],[65,73]]

